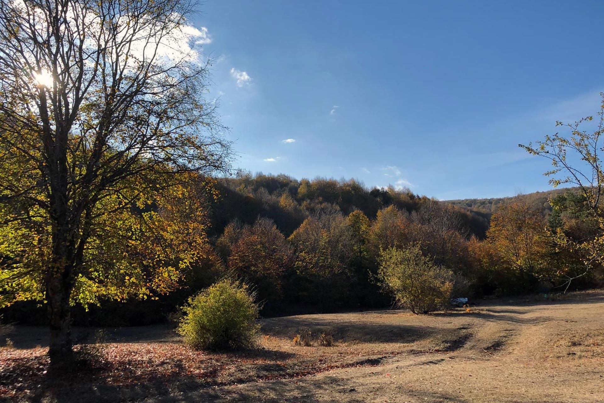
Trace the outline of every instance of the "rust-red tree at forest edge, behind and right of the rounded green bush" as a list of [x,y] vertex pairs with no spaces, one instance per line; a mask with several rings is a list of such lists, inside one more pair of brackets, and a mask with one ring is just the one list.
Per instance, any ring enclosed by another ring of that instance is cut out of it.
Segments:
[[284,275],[291,265],[292,247],[268,218],[241,230],[231,247],[228,268],[257,289],[260,300],[283,298]]

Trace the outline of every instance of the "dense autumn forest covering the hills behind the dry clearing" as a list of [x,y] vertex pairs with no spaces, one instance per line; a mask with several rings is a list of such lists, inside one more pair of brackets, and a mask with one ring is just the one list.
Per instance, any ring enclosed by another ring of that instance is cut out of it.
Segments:
[[[240,173],[215,179],[211,191],[196,197],[206,211],[208,243],[178,289],[76,307],[75,323],[163,321],[225,276],[248,283],[264,315],[391,306],[377,280],[380,256],[406,245],[419,245],[447,270],[456,297],[564,291],[602,281],[596,270],[568,284],[585,266],[576,251],[554,242],[559,229],[574,239],[594,232],[576,189],[437,201],[409,189],[368,189],[354,179]],[[7,320],[45,321],[31,301],[4,311]]]

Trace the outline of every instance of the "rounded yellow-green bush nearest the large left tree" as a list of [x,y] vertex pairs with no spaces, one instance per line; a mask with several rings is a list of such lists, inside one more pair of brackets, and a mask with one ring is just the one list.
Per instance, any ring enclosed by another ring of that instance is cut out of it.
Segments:
[[254,298],[245,284],[221,280],[189,298],[178,333],[194,349],[254,347],[260,328]]

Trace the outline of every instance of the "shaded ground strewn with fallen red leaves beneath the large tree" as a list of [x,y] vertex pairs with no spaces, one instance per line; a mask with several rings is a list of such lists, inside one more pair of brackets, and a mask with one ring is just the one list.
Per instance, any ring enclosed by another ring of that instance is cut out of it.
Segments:
[[[144,359],[112,363],[102,352],[95,354],[93,351],[69,369],[54,374],[47,372],[47,355],[24,356],[13,358],[4,366],[0,373],[0,396],[12,393],[18,401],[40,403],[137,401],[178,396],[257,379],[291,377],[288,372],[292,369],[282,363],[294,356],[293,353],[266,349],[219,352],[205,359],[207,366],[198,367],[191,373],[182,359],[170,359],[167,366],[150,365]],[[236,372],[228,368],[234,359],[240,363]]]

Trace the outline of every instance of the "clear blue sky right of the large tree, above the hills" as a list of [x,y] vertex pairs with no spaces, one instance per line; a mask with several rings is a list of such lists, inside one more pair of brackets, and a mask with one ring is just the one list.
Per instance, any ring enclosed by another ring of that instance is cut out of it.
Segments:
[[[211,92],[236,167],[407,185],[439,199],[547,190],[518,143],[594,114],[600,1],[218,1]],[[283,140],[295,141],[284,142]]]

